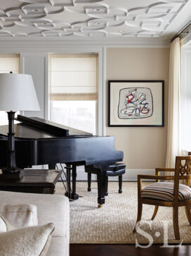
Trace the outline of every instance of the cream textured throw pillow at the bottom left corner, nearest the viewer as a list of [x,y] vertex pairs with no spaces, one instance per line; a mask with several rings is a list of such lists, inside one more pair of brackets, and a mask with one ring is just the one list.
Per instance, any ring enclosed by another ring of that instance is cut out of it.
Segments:
[[44,256],[48,252],[53,223],[0,233],[0,256]]

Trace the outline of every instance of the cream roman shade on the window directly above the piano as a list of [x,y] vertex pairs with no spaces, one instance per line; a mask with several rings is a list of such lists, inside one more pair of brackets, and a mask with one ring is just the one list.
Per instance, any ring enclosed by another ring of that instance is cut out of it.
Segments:
[[51,100],[97,100],[98,55],[51,55]]

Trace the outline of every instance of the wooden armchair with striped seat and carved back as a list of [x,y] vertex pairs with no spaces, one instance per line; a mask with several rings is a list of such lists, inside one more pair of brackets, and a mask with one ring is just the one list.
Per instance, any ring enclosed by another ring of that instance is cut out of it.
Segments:
[[[160,171],[173,171],[174,175],[160,176]],[[156,217],[159,206],[173,207],[173,229],[176,240],[179,240],[178,207],[185,206],[187,220],[191,225],[191,156],[176,157],[175,169],[157,168],[155,174],[138,175],[138,216],[133,233],[136,232],[138,222],[141,220],[143,204],[155,205],[152,220]],[[142,179],[144,178],[156,179],[156,182],[142,189]],[[160,182],[159,180],[164,180],[164,182]],[[170,180],[174,182],[168,182]],[[180,180],[185,180],[185,184],[179,183]]]

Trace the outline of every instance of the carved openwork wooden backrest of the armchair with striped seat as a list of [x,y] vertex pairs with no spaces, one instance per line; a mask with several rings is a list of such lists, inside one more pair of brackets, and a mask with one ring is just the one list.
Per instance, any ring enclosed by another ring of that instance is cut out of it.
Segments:
[[174,181],[174,199],[178,201],[178,188],[180,180],[185,180],[186,185],[190,185],[191,179],[191,155],[176,157]]

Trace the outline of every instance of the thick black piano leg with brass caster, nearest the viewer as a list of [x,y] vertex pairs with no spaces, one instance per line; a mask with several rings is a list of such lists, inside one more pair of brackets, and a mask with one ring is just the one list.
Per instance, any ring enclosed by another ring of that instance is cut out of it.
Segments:
[[107,182],[106,171],[105,169],[101,169],[97,173],[98,177],[98,207],[102,207],[105,204],[105,185]]

